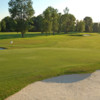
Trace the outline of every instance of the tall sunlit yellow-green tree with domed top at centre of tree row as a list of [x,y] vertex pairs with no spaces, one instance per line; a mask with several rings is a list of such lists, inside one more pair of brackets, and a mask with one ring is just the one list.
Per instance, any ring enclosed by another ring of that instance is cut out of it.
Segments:
[[58,31],[58,10],[53,7],[48,7],[43,12],[44,31],[53,34]]

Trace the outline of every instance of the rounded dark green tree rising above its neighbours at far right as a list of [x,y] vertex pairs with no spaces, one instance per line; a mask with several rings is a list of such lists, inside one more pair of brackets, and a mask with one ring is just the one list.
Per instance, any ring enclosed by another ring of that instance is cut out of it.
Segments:
[[84,22],[85,22],[85,31],[86,32],[92,32],[92,26],[93,26],[92,18],[91,17],[85,17]]

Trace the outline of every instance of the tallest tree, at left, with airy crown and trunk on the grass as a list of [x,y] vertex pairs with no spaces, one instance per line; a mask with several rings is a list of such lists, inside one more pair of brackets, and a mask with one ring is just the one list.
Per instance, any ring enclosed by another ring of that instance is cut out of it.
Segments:
[[28,21],[33,16],[34,10],[31,0],[10,0],[9,12],[12,18],[17,20],[19,31],[24,37],[26,31],[28,31]]

